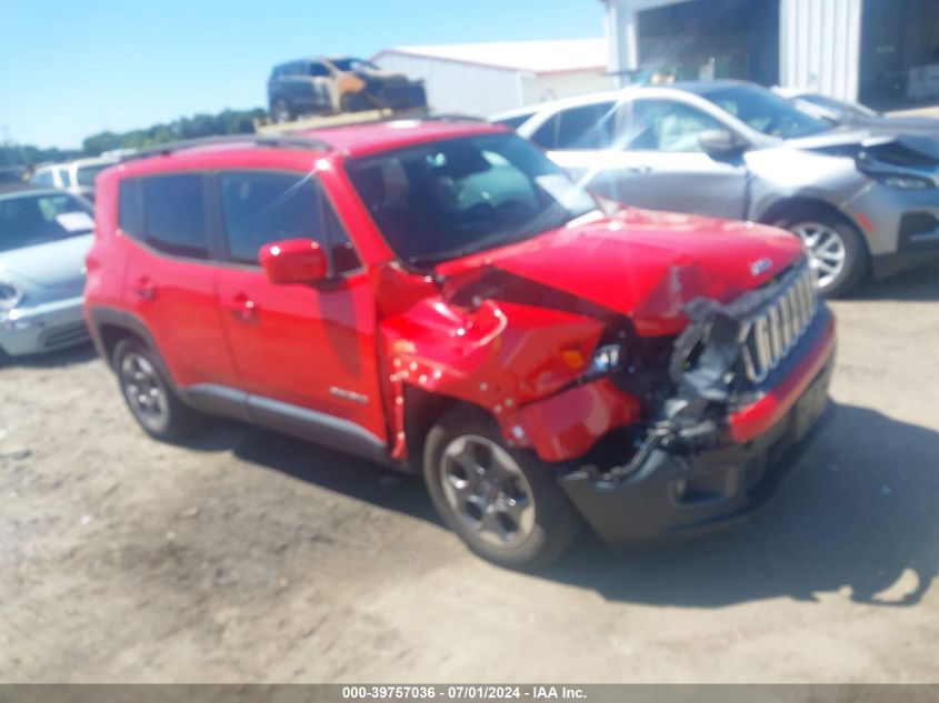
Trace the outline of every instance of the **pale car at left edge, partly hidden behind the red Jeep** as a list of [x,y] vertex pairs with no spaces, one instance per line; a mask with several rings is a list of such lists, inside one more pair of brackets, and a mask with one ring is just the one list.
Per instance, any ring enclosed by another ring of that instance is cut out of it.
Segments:
[[81,198],[0,184],[0,356],[88,339],[82,292],[93,228]]

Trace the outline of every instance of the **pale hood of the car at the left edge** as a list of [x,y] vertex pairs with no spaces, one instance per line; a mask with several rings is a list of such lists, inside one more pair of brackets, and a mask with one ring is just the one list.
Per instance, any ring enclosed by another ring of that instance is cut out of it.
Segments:
[[0,277],[6,273],[33,285],[78,294],[84,287],[84,257],[92,241],[92,234],[80,234],[0,252]]

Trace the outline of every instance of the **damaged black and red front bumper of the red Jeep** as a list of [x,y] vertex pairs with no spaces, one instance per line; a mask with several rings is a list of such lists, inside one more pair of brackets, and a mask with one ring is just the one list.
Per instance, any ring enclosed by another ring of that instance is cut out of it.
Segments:
[[561,485],[608,542],[647,541],[733,522],[781,486],[828,408],[835,324],[821,321],[810,348],[771,390],[727,418],[728,441],[687,452],[658,448],[635,472],[609,481],[580,470]]

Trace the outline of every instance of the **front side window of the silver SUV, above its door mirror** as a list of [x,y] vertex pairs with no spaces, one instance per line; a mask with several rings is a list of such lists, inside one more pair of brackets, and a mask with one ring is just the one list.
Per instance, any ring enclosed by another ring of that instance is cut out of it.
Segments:
[[712,117],[680,102],[642,100],[633,103],[623,141],[631,151],[701,151],[701,132],[722,129]]

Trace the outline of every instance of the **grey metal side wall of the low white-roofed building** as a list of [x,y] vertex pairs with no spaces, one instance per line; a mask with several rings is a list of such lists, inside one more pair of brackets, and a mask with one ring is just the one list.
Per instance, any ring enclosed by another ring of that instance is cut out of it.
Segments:
[[423,79],[428,102],[437,112],[487,117],[525,104],[521,77],[516,71],[391,52],[378,57],[377,62],[389,71]]

